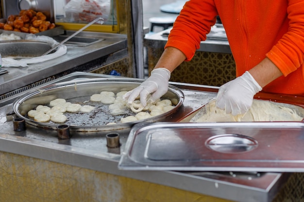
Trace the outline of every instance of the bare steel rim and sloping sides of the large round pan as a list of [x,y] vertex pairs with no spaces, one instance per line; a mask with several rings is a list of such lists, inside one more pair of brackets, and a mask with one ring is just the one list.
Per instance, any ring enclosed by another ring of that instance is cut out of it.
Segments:
[[[13,109],[16,115],[20,118],[23,118],[27,124],[48,129],[56,129],[59,124],[36,122],[33,119],[27,117],[27,112],[31,109],[35,109],[38,105],[48,105],[51,100],[54,100],[56,98],[73,100],[73,102],[83,102],[84,100],[89,99],[92,94],[100,93],[101,91],[112,91],[114,93],[118,93],[120,91],[129,91],[140,85],[140,83],[141,82],[138,80],[128,78],[98,78],[79,80],[76,79],[57,84],[51,84],[49,86],[34,90],[32,92],[24,94],[21,97],[18,97],[13,104]],[[89,125],[73,124],[70,125],[70,130],[74,132],[117,130],[131,128],[134,124],[143,121],[161,121],[182,106],[184,101],[184,93],[178,88],[170,85],[169,91],[164,96],[162,96],[162,98],[171,100],[175,98],[177,100],[177,104],[173,109],[166,113],[140,121],[118,123],[114,125],[99,125],[94,123]],[[96,118],[96,122],[98,122],[99,119],[101,119],[100,115],[98,118]]]

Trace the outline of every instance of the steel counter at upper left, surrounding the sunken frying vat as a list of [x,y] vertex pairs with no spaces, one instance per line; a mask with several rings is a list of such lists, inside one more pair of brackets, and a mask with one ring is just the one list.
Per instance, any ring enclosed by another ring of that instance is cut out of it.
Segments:
[[[72,33],[73,31],[68,31],[68,34],[71,34],[69,32]],[[15,91],[127,47],[127,36],[123,34],[83,31],[77,36],[104,40],[82,47],[67,46],[67,53],[54,60],[30,64],[27,67],[5,67],[9,73],[0,76],[0,95]]]

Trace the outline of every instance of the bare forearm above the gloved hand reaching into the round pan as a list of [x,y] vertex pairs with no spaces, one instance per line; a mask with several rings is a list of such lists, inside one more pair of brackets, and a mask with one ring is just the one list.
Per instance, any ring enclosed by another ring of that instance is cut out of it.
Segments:
[[167,47],[158,62],[156,63],[154,69],[156,68],[166,68],[172,72],[178,65],[184,62],[186,59],[185,54],[175,47]]

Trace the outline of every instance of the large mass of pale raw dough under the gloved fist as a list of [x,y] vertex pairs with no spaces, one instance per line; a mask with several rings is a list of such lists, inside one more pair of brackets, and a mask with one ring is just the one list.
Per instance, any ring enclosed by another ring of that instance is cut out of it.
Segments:
[[[273,122],[302,121],[295,110],[282,107],[270,101],[253,100],[249,111],[244,115],[232,116],[215,106],[216,100],[205,105],[205,109],[196,114],[190,122]],[[204,111],[205,110],[205,111]]]

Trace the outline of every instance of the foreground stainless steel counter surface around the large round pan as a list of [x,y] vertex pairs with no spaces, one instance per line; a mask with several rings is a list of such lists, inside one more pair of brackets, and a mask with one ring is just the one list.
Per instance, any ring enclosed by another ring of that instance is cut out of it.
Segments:
[[[103,78],[107,75],[75,72],[48,84],[82,78]],[[165,121],[175,122],[216,96],[217,87],[171,83],[185,94],[183,106]],[[24,92],[26,93],[26,92]],[[13,122],[6,116],[12,103],[0,108],[0,151],[50,160],[72,166],[101,171],[141,181],[214,196],[236,202],[270,202],[289,176],[286,173],[242,173],[200,171],[122,171],[118,170],[120,154],[129,129],[118,130],[120,148],[106,147],[107,132],[77,134],[69,140],[59,140],[56,131],[27,125],[21,132],[13,130]]]

